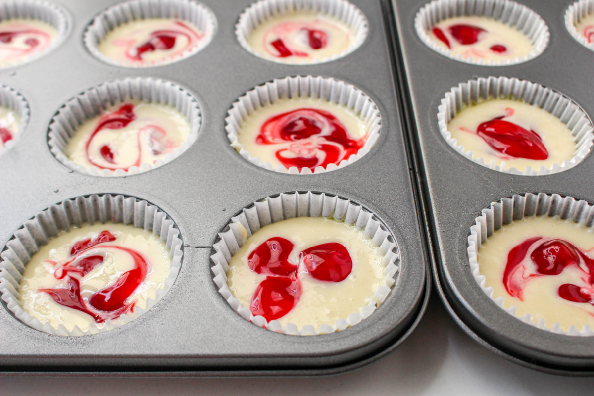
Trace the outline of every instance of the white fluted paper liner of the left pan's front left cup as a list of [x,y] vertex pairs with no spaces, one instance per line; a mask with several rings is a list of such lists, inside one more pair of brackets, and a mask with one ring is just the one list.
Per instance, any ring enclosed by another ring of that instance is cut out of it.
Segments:
[[[73,226],[80,227],[84,224],[106,223],[107,221],[144,228],[166,242],[167,248],[170,249],[171,271],[165,280],[163,289],[157,290],[154,299],[146,301],[144,309],[135,308],[133,313],[107,320],[100,325],[91,323],[86,331],[82,331],[77,326],[69,331],[63,324],[55,328],[49,323],[42,324],[38,319],[31,318],[29,313],[23,311],[18,300],[21,274],[31,256],[39,251],[40,246],[58,236],[61,231],[68,231]],[[146,201],[111,194],[94,194],[67,199],[25,221],[23,227],[18,229],[8,241],[6,249],[0,254],[2,258],[0,261],[0,293],[7,308],[21,322],[36,330],[56,335],[86,335],[108,331],[143,315],[165,296],[179,273],[183,255],[182,246],[183,243],[175,223],[163,211]]]

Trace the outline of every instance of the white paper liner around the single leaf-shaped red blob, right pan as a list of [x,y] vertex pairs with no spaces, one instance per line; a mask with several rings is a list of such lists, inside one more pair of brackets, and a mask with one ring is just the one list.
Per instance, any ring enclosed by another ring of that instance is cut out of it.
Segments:
[[[486,163],[483,158],[473,159],[474,153],[467,151],[463,145],[458,144],[457,140],[451,136],[451,132],[448,131],[447,125],[466,106],[494,98],[520,100],[539,107],[560,119],[571,130],[573,141],[576,144],[573,158],[563,161],[561,164],[553,164],[549,168],[541,166],[537,171],[531,167],[526,167],[523,172],[516,168],[505,169],[505,161],[497,165],[494,160]],[[445,97],[441,99],[437,121],[440,133],[445,141],[462,156],[481,166],[499,172],[511,173],[512,175],[551,175],[552,173],[570,169],[582,162],[590,153],[592,140],[594,139],[592,121],[579,104],[551,88],[530,81],[518,80],[517,78],[479,77],[476,80],[469,80],[451,88],[445,94]]]

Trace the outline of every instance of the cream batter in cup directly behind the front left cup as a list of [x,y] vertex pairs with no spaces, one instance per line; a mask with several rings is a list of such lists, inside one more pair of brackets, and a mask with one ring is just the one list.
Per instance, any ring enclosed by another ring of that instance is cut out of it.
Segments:
[[[134,121],[124,128],[100,129],[94,136],[100,118],[115,112],[123,103],[108,108],[102,116],[89,119],[77,129],[68,142],[66,155],[76,164],[87,168],[124,169],[164,160],[176,147],[181,147],[191,132],[188,119],[172,106],[130,101],[134,104]],[[89,142],[90,141],[90,142]],[[87,143],[88,157],[87,157]],[[101,153],[108,145],[113,153],[110,163]],[[91,163],[91,161],[93,163]]]

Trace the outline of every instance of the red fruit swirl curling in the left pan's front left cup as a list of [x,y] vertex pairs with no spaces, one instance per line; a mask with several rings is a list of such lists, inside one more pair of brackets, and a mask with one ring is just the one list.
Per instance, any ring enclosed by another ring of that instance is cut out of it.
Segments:
[[[142,283],[147,274],[149,264],[138,252],[124,248],[123,246],[102,245],[105,242],[115,240],[112,233],[105,230],[95,239],[84,239],[72,246],[72,259],[65,262],[61,268],[55,271],[57,279],[67,277],[66,288],[39,289],[40,292],[48,293],[60,305],[76,309],[92,316],[97,323],[105,322],[108,319],[118,318],[134,308],[134,303],[126,304],[126,300]],[[83,256],[90,248],[118,249],[124,251],[134,260],[134,268],[121,275],[115,284],[104,287],[91,294],[88,301],[81,297],[79,278],[84,277],[105,260],[104,256],[91,255]],[[58,263],[53,263],[57,265]]]

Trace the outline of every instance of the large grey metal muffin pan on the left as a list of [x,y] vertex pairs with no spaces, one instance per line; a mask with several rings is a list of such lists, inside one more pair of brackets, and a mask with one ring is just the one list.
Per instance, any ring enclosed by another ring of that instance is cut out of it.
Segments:
[[[380,1],[353,1],[369,20],[369,36],[358,50],[327,64],[289,66],[256,58],[237,42],[234,25],[252,0],[204,0],[217,18],[212,42],[188,59],[147,69],[105,64],[84,47],[87,24],[116,0],[55,2],[71,16],[65,42],[43,59],[0,72],[0,82],[23,94],[31,110],[26,130],[0,156],[0,246],[52,204],[110,193],[144,199],[165,211],[184,240],[184,258],[177,280],[156,306],[102,334],[45,334],[0,308],[1,373],[317,375],[362,366],[402,343],[424,313],[431,278]],[[226,137],[231,104],[255,85],[308,74],[347,81],[372,97],[382,116],[375,147],[356,163],[320,175],[285,175],[248,163]],[[196,97],[203,118],[197,141],[172,162],[125,177],[84,175],[56,160],[47,131],[59,107],[89,87],[136,76],[172,81]],[[210,270],[217,233],[251,202],[289,191],[352,199],[396,238],[399,282],[360,324],[315,337],[277,334],[233,312],[217,292]]]

